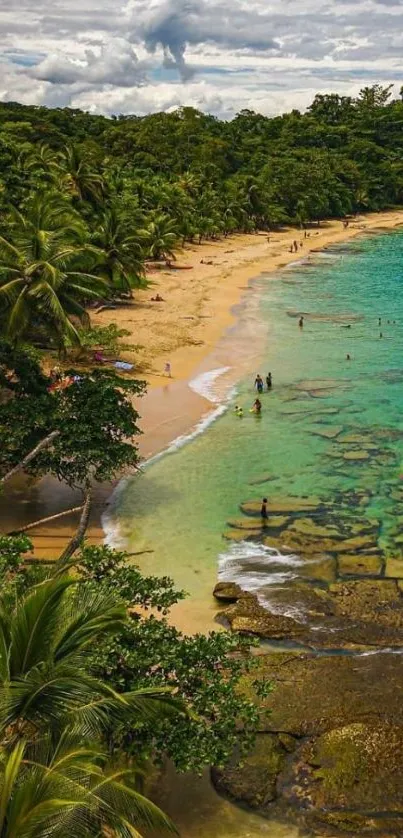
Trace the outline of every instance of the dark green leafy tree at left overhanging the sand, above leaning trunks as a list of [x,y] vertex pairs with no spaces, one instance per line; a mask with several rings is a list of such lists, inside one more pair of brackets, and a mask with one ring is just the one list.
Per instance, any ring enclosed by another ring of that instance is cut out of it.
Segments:
[[[68,375],[76,375],[69,370]],[[16,466],[50,433],[57,437],[27,466],[31,474],[52,473],[70,486],[111,480],[136,467],[140,434],[132,395],[144,382],[94,370],[64,390],[49,392],[39,364],[21,350],[0,344],[0,474]],[[21,416],[24,421],[21,421]]]

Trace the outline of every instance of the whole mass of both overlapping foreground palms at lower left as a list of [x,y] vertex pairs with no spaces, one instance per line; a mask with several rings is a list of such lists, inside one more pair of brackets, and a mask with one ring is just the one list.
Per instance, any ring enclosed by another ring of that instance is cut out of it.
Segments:
[[[16,538],[3,546],[15,558],[27,544]],[[21,572],[17,562],[16,592]],[[2,585],[2,836],[176,831],[139,793],[138,762],[111,756],[110,731],[182,715],[183,704],[167,688],[117,693],[90,672],[91,647],[118,634],[126,620],[118,596],[72,577],[56,574],[14,598],[4,596]]]

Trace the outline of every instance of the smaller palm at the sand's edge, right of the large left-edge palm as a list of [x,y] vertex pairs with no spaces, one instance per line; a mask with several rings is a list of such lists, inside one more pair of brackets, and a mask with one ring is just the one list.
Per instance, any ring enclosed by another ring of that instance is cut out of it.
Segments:
[[146,286],[142,245],[138,236],[128,234],[115,207],[105,210],[93,242],[103,252],[100,273],[114,291],[131,295],[133,288]]

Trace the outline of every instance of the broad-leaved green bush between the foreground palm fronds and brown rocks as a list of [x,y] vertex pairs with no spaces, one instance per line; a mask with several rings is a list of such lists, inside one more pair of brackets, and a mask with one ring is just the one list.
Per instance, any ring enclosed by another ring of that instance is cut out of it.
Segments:
[[[113,734],[116,747],[160,760],[169,756],[182,771],[222,765],[235,745],[246,753],[259,718],[257,702],[241,688],[255,668],[253,643],[227,632],[186,637],[165,619],[146,616],[150,607],[167,614],[184,594],[169,579],[143,577],[128,561],[129,556],[107,547],[87,547],[79,560],[85,579],[97,589],[119,592],[131,606],[124,630],[94,650],[94,672],[122,691],[169,686],[191,712],[159,723],[119,725]],[[256,695],[268,688],[256,683]]]

